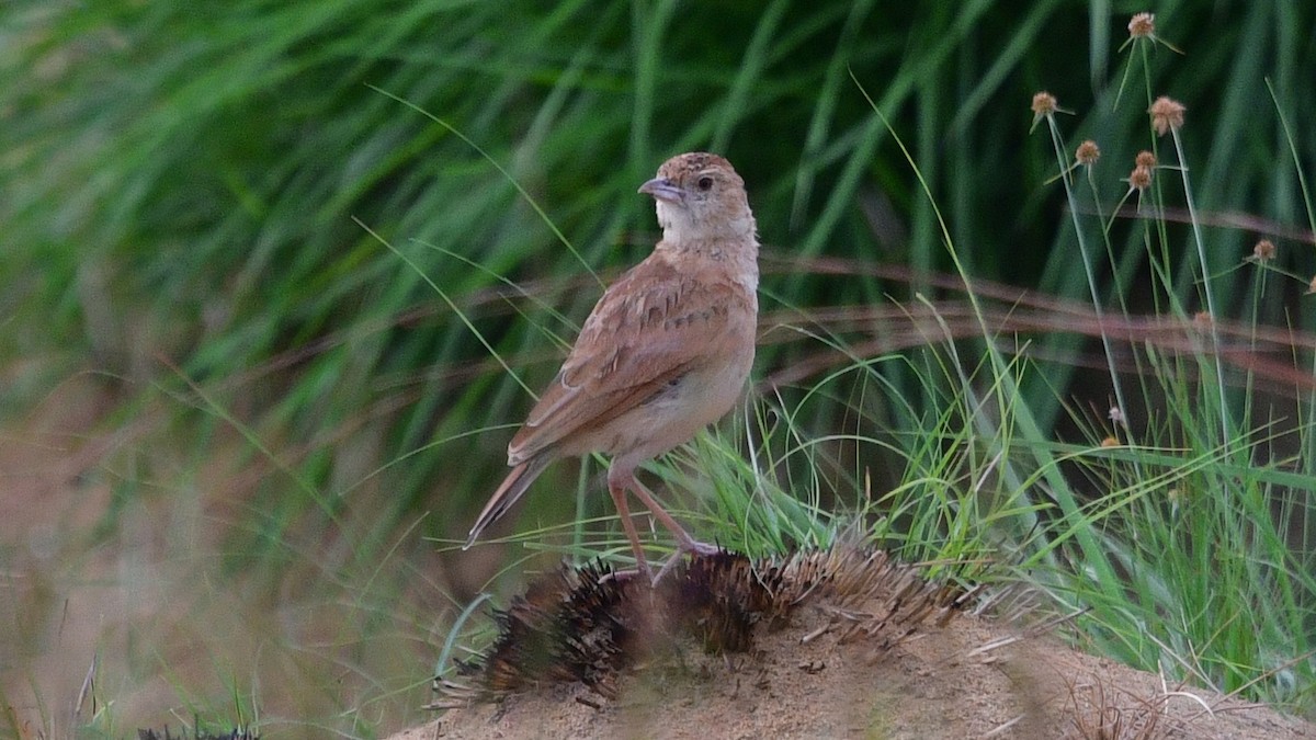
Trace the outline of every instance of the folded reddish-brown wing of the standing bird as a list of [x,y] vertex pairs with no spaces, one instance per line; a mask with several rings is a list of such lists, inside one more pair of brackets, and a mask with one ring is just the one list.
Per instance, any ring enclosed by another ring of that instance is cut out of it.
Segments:
[[558,377],[508,445],[516,465],[570,435],[642,404],[696,367],[730,327],[728,307],[745,303],[728,282],[699,280],[658,253],[599,299]]

